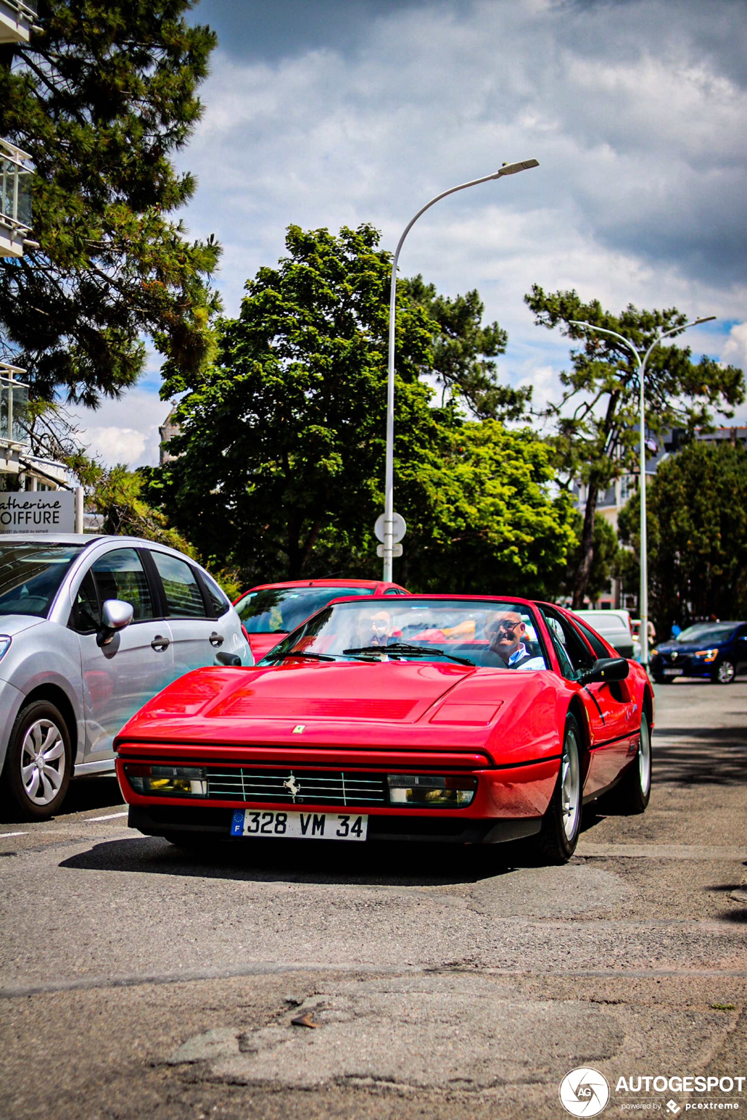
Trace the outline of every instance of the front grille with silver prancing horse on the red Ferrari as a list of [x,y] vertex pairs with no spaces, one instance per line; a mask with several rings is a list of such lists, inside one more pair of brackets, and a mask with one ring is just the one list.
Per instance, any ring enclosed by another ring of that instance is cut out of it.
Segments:
[[258,771],[248,766],[207,769],[207,795],[221,801],[288,804],[385,805],[386,776],[357,771]]

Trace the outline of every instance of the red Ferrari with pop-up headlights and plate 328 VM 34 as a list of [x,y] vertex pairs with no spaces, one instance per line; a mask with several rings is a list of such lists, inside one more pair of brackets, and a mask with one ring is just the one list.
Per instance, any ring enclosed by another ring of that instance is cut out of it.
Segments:
[[338,599],[254,668],[188,673],[115,740],[129,823],[214,838],[532,837],[573,852],[581,806],[643,812],[653,693],[573,615],[486,596]]

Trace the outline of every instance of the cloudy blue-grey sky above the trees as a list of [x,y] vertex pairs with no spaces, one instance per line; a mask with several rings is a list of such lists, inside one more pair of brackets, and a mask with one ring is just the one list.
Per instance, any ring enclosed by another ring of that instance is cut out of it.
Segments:
[[[394,249],[435,194],[535,157],[439,203],[401,256],[479,290],[507,380],[543,400],[567,357],[523,304],[533,282],[716,315],[694,352],[747,367],[744,0],[202,0],[190,18],[220,45],[179,156],[199,184],[184,220],[224,246],[227,314],[290,223],[373,222]],[[153,361],[83,416],[92,450],[155,463],[158,388]]]

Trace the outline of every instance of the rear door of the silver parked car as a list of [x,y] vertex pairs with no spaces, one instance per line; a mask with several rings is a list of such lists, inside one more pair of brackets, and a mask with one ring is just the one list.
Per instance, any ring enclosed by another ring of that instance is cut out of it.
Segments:
[[174,676],[215,664],[215,654],[230,636],[232,612],[226,612],[223,618],[209,617],[214,612],[192,564],[157,549],[150,549],[149,556],[158,573],[164,613],[174,641]]

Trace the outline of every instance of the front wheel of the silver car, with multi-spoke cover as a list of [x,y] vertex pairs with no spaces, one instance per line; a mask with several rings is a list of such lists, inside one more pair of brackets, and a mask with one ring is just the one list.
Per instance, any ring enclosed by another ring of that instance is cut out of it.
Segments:
[[16,718],[0,786],[3,801],[26,821],[48,821],[69,785],[73,754],[67,725],[47,700],[36,700]]

